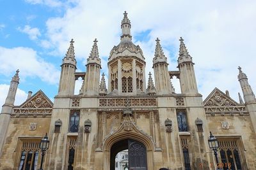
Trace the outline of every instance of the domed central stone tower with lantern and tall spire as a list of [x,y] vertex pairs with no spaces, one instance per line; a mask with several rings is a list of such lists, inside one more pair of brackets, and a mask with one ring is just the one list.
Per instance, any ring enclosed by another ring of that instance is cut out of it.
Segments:
[[126,11],[121,29],[121,41],[113,47],[108,59],[108,91],[124,96],[145,94],[146,62],[140,46],[132,43],[131,22]]

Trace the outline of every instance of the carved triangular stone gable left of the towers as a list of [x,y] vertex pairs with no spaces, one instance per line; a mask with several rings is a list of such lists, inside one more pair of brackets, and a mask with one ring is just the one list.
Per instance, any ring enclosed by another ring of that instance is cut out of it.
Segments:
[[52,108],[52,101],[45,96],[42,90],[36,92],[33,96],[31,96],[27,101],[22,103],[19,108]]

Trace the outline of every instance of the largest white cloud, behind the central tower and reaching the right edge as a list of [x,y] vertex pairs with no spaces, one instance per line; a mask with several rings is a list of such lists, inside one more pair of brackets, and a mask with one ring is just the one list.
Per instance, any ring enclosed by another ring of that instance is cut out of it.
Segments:
[[[230,90],[230,96],[237,99],[237,92],[241,91],[237,66],[243,67],[256,90],[256,22],[252,22],[256,18],[255,8],[256,1],[81,0],[74,8],[67,8],[63,17],[47,20],[47,36],[49,43],[56,46],[52,52],[55,55],[63,56],[68,41],[74,38],[77,61],[84,60],[90,53],[93,39],[97,38],[100,56],[108,56],[120,41],[120,22],[126,10],[134,41],[138,33],[150,30],[148,40],[138,42],[147,61],[147,72],[152,71],[154,40],[161,39],[165,55],[173,61],[177,60],[182,36],[195,62],[197,83],[204,98],[214,87],[219,87],[223,91]],[[104,58],[104,72],[108,69],[106,62]],[[177,70],[177,62],[169,64],[169,69]]]

